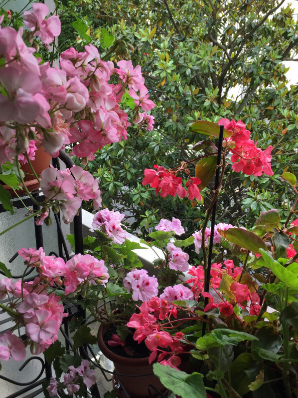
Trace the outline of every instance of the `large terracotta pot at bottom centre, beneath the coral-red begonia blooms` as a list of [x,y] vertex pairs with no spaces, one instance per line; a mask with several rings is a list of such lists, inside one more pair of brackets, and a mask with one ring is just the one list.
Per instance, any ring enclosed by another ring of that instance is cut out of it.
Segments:
[[[154,386],[162,394],[166,394],[167,389],[160,383],[159,379],[153,374],[152,365],[149,365],[149,358],[124,358],[113,353],[104,342],[104,334],[109,329],[107,325],[101,325],[98,330],[98,346],[101,352],[114,363],[115,373],[127,376],[113,376],[113,387],[117,391],[117,396],[126,398],[120,383],[131,398],[148,398],[149,384]],[[149,375],[149,376],[144,376]],[[135,377],[134,377],[135,376]],[[138,376],[138,377],[136,377]],[[119,381],[120,383],[119,383]],[[160,397],[151,389],[152,397]]]

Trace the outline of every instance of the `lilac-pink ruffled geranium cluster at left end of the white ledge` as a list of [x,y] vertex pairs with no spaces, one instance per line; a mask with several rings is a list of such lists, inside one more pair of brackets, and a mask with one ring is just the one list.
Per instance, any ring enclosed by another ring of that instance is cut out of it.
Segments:
[[124,214],[119,211],[103,209],[94,215],[91,231],[102,231],[114,243],[122,244],[127,238],[127,232],[122,228]]

